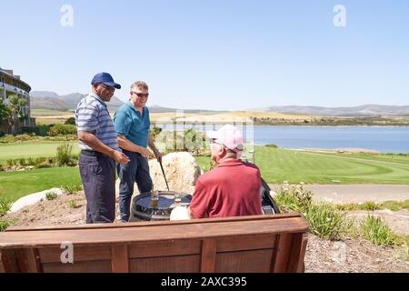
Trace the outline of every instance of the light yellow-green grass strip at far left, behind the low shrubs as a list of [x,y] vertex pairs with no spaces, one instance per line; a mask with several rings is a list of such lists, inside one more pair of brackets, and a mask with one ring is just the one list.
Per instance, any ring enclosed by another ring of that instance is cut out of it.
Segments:
[[[8,159],[21,157],[56,156],[56,148],[67,142],[35,142],[21,144],[0,145],[0,163],[5,164]],[[73,145],[73,154],[79,153],[77,142],[68,142]]]

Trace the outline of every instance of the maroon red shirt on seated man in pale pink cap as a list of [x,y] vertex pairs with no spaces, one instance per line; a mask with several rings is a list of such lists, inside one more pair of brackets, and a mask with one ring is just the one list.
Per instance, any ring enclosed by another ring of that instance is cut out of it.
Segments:
[[261,215],[257,166],[230,159],[200,176],[189,208],[195,218]]

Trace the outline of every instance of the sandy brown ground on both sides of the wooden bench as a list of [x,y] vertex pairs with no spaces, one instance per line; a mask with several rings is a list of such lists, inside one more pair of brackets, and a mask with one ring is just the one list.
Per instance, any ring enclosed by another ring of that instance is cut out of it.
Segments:
[[[69,206],[71,200],[75,201],[76,208]],[[2,218],[14,219],[14,226],[85,224],[85,196],[84,193],[59,196],[53,201],[42,201]],[[409,273],[409,261],[403,258],[403,249],[400,248],[374,246],[360,239],[330,242],[309,235],[305,271]]]

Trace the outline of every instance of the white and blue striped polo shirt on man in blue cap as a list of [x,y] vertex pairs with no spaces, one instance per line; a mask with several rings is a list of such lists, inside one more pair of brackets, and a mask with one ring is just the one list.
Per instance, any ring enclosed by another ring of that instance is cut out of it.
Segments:
[[[78,131],[95,135],[103,144],[119,150],[114,123],[105,102],[94,93],[85,96],[75,109],[75,124]],[[94,150],[79,141],[81,149]]]

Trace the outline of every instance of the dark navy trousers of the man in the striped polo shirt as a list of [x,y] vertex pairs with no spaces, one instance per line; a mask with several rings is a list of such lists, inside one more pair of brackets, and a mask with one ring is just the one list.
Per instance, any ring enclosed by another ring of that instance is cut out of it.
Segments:
[[85,156],[79,169],[86,196],[86,223],[115,221],[115,160],[109,156]]

